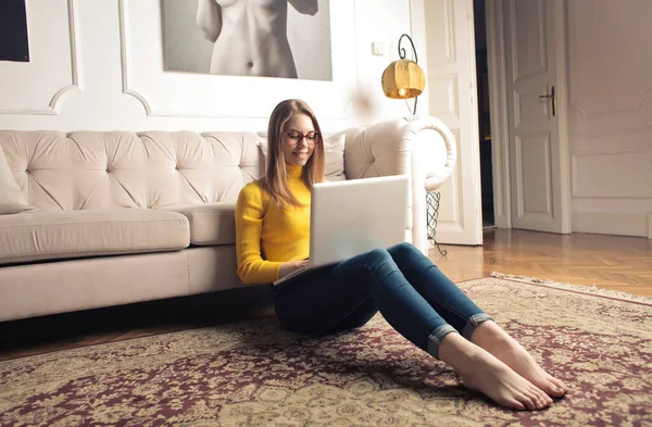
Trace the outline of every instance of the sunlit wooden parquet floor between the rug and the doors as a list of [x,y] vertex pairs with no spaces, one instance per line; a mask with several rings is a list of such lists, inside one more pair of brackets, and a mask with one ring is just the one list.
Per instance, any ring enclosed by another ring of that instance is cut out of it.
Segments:
[[481,247],[442,249],[446,258],[432,249],[430,260],[454,281],[499,272],[652,296],[652,240],[645,238],[499,229],[485,233]]

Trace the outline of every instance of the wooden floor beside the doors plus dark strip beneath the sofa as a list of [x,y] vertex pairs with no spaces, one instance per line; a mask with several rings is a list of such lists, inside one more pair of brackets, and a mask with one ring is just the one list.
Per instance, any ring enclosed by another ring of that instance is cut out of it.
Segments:
[[[652,296],[652,240],[522,230],[486,233],[481,247],[443,246],[430,259],[453,280],[491,272]],[[0,361],[273,315],[268,287],[229,290],[0,323]]]

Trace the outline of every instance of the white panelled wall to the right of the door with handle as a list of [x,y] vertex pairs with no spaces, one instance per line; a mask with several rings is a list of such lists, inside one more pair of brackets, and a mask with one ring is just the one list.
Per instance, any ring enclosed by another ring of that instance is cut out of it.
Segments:
[[652,2],[567,5],[573,230],[648,236]]

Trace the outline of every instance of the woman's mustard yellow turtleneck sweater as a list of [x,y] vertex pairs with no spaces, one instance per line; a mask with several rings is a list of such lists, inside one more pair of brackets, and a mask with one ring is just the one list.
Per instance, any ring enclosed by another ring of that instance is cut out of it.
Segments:
[[236,203],[238,276],[244,284],[278,279],[280,264],[310,255],[310,190],[302,166],[286,163],[290,192],[304,206],[278,208],[258,181],[249,183]]

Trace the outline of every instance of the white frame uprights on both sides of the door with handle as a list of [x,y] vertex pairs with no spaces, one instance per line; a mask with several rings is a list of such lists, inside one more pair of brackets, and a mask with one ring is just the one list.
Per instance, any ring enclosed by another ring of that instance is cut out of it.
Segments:
[[[507,124],[507,70],[505,62],[504,4],[506,0],[486,0],[487,66],[489,70],[489,111],[491,115],[491,156],[493,171],[493,212],[496,226],[512,228],[512,192],[510,168],[510,127]],[[546,0],[550,1],[550,0]],[[568,67],[566,60],[567,0],[552,0],[554,4],[556,43],[561,52],[557,81],[560,111],[560,166],[562,174],[562,233],[572,233],[570,149],[568,143]]]

